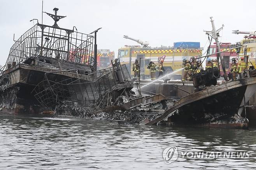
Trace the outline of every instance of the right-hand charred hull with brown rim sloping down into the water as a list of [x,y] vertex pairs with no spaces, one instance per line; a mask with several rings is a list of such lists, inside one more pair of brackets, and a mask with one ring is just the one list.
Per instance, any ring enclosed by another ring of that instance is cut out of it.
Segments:
[[168,123],[247,127],[248,120],[238,115],[238,110],[255,93],[255,84],[255,77],[243,78],[187,95],[147,125]]

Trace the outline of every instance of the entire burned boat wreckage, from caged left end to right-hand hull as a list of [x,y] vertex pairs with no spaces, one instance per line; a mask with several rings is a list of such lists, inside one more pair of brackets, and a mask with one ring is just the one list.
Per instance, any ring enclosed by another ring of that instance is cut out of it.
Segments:
[[[219,72],[202,71],[194,77],[195,92],[180,99],[142,95],[139,84],[118,59],[109,68],[96,70],[96,32],[93,36],[79,33],[75,27],[60,28],[57,21],[64,16],[57,16],[57,8],[53,10],[55,15],[46,13],[54,19],[53,26],[37,23],[12,45],[0,74],[2,111],[67,114],[142,125],[247,127],[248,120],[241,114],[255,93],[254,70],[248,71],[246,78],[221,85],[216,85]],[[227,106],[224,100],[232,105]]]

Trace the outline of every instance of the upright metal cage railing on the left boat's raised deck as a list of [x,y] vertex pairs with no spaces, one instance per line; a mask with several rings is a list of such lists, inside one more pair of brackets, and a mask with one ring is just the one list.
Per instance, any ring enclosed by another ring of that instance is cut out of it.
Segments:
[[8,64],[19,64],[33,56],[93,66],[94,39],[94,36],[76,32],[74,28],[71,30],[37,23],[15,41],[0,71],[8,69]]

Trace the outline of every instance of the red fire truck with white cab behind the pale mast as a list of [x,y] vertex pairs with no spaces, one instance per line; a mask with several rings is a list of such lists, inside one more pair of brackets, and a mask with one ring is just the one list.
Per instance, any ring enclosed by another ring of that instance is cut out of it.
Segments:
[[[221,55],[223,56],[224,66],[226,69],[226,73],[228,74],[231,69],[231,64],[232,64],[231,59],[236,58],[238,61],[236,49],[233,49],[233,50],[228,50],[228,49],[235,48],[236,44],[221,43],[220,46],[221,46],[221,51],[224,51],[221,53]],[[226,51],[226,50],[228,50],[228,51]],[[216,43],[214,43],[213,45],[210,45],[210,49],[209,49],[209,55],[213,54],[210,56],[211,60],[217,59],[217,54],[214,54],[216,52],[217,52],[217,45],[216,45]],[[221,69],[221,67],[220,67],[220,71],[221,71],[221,75],[223,75],[223,70]]]

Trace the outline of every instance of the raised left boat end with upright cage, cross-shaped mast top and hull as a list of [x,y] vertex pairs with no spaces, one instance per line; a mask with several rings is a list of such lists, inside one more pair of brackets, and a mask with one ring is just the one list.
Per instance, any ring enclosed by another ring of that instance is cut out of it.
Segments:
[[[1,109],[14,113],[40,113],[42,107],[32,90],[45,78],[59,82],[95,71],[95,36],[60,28],[58,8],[54,25],[37,23],[12,45],[0,73]],[[32,21],[32,20],[31,20]],[[76,29],[76,31],[74,30]]]

